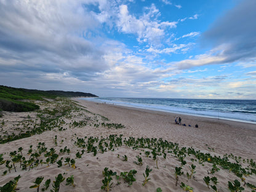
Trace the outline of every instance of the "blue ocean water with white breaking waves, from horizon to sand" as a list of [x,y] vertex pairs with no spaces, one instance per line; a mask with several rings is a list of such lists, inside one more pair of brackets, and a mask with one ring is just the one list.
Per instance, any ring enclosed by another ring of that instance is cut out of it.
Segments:
[[116,97],[82,99],[147,110],[256,124],[256,100]]

